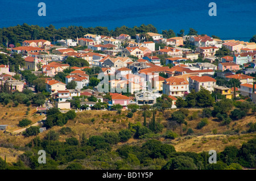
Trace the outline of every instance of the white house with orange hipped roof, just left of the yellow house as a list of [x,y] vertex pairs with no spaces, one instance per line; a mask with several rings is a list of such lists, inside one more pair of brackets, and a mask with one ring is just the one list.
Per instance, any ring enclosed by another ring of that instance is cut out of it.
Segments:
[[189,77],[189,90],[195,89],[196,92],[199,92],[201,89],[201,86],[204,87],[204,89],[212,92],[213,86],[216,85],[216,79],[208,76],[192,76]]

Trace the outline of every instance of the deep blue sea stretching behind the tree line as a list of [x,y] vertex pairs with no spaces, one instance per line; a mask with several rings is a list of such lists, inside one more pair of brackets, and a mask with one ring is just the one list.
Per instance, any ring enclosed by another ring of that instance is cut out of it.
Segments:
[[[46,3],[46,16],[39,16],[38,4]],[[209,16],[210,2],[217,5],[217,16]],[[221,39],[249,41],[256,34],[255,0],[105,0],[54,1],[13,0],[0,2],[0,28],[38,24],[56,28],[68,26],[115,27],[152,24],[162,30],[189,28],[199,34],[216,35]]]

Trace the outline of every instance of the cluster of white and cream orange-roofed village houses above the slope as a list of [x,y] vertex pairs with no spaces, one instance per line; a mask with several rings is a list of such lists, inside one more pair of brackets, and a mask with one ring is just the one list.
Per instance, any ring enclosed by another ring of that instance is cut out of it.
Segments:
[[[255,77],[250,76],[255,76],[256,72],[255,43],[220,40],[207,35],[166,39],[158,33],[146,34],[151,41],[145,41],[146,37],[139,34],[136,39],[131,39],[126,34],[109,37],[89,33],[84,37],[77,37],[76,40],[58,40],[55,44],[47,40],[25,40],[22,46],[8,48],[10,53],[3,53],[5,56],[21,54],[24,59],[21,71],[30,70],[37,76],[43,75],[45,91],[49,92],[54,105],[60,109],[74,108],[68,102],[73,96],[95,96],[111,110],[114,104],[120,104],[124,109],[129,104],[152,105],[162,94],[173,100],[171,108],[175,108],[177,97],[182,98],[192,90],[198,92],[201,87],[210,92],[220,92],[226,98],[232,99],[234,87],[220,85],[214,79],[216,77],[227,81],[238,79],[240,86],[236,87],[236,96],[245,96],[256,102]],[[195,48],[183,48],[185,41]],[[156,47],[159,44],[162,48]],[[73,47],[86,48],[75,50]],[[217,57],[216,52],[221,48],[228,49],[230,53]],[[67,60],[81,59],[86,60],[87,66],[71,66],[67,63]],[[65,80],[56,79],[56,75],[65,70],[70,70]],[[94,74],[90,73],[94,77],[100,73],[114,76],[114,79],[110,77],[109,80],[111,90],[127,87],[130,96],[115,90],[110,91],[115,99],[104,99],[103,96],[109,92],[99,92],[97,85],[90,83],[92,76],[88,74],[89,70],[94,71]],[[28,86],[26,79],[19,81],[13,77],[15,72],[10,71],[9,65],[0,65],[0,71],[2,82],[7,81],[11,91],[23,91]],[[70,86],[67,85],[71,82],[75,82],[76,86],[68,89]],[[94,108],[95,104],[85,99],[81,101],[81,105],[88,109]]]

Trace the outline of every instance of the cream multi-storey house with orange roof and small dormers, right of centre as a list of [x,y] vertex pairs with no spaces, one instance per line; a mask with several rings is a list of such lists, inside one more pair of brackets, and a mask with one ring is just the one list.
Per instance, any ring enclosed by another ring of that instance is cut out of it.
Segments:
[[183,78],[170,77],[163,82],[163,94],[183,96],[189,92],[189,84]]

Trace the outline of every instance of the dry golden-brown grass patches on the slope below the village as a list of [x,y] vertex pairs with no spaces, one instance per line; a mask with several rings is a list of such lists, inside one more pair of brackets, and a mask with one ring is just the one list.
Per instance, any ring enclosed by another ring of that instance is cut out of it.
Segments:
[[[30,115],[25,115],[27,111],[26,106],[20,105],[18,108],[11,107],[3,107],[0,106],[2,111],[0,115],[4,117],[4,119],[0,120],[0,124],[8,124],[10,125],[9,130],[15,130],[20,129],[17,127],[17,124],[19,123],[19,120],[23,119],[23,117],[29,117],[30,120],[35,123],[36,121],[42,119],[43,116],[40,116],[36,114],[36,116],[33,116],[35,113],[36,107],[30,107]],[[156,121],[160,121],[165,128],[163,130],[163,133],[167,131],[167,117],[171,115],[172,112],[176,110],[171,111],[165,111],[164,113],[158,112],[156,113]],[[195,111],[201,111],[201,109],[189,109],[189,115],[192,115]],[[5,112],[8,112],[7,116],[5,116]],[[137,121],[140,121],[143,123],[143,116],[142,111],[137,111],[134,113],[134,116],[132,118],[126,117],[127,111],[122,111],[121,115],[118,115],[116,111],[82,111],[77,112],[77,117],[75,120],[68,121],[68,123],[65,125],[65,127],[70,127],[72,129],[72,133],[68,135],[60,135],[60,141],[65,141],[67,137],[74,136],[77,139],[80,138],[82,133],[85,133],[85,136],[89,138],[93,135],[100,135],[103,132],[119,132],[121,129],[128,128],[128,124],[135,123]],[[94,119],[94,121],[92,121]],[[147,118],[147,121],[149,121],[151,118]],[[115,120],[113,122],[113,120]],[[168,144],[172,144],[175,146],[176,151],[193,151],[196,153],[199,153],[201,151],[209,151],[209,150],[216,150],[216,151],[222,151],[224,150],[225,146],[228,145],[234,145],[238,148],[243,144],[243,142],[246,142],[247,140],[255,137],[255,134],[240,134],[240,135],[224,135],[223,132],[230,131],[230,130],[239,130],[246,131],[248,128],[246,127],[246,124],[253,122],[256,122],[255,115],[249,115],[245,118],[238,120],[238,121],[232,121],[230,123],[229,127],[227,126],[220,126],[220,123],[217,121],[214,121],[213,119],[208,119],[208,125],[203,127],[202,129],[196,129],[197,124],[200,122],[201,118],[199,117],[196,120],[189,121],[187,120],[187,126],[183,126],[185,128],[192,128],[195,134],[203,134],[201,136],[183,136],[176,138],[175,140],[164,140],[164,138],[160,138],[160,141],[166,142]],[[62,127],[53,127],[51,130],[53,131],[59,131]],[[187,129],[185,132],[187,132]],[[217,129],[217,134],[213,134],[213,129]],[[46,136],[46,134],[49,131],[43,132],[39,134],[40,138],[43,138]],[[180,133],[180,127],[178,126],[175,129],[176,133]],[[10,134],[6,134],[3,132],[0,132],[0,142],[1,144],[13,144],[16,146],[25,146],[35,137],[23,137],[23,136],[12,136]],[[125,144],[129,145],[142,145],[145,140],[136,140],[134,138],[130,138],[129,141],[127,141]],[[113,146],[113,150],[117,149],[119,146],[123,145],[123,143],[118,143],[117,145]],[[14,149],[10,148],[0,148],[0,156],[3,158],[6,154],[7,162],[14,161],[16,158],[15,156],[12,156],[12,152],[18,154],[22,154],[22,152],[15,152]],[[14,155],[14,154],[13,154]]]

